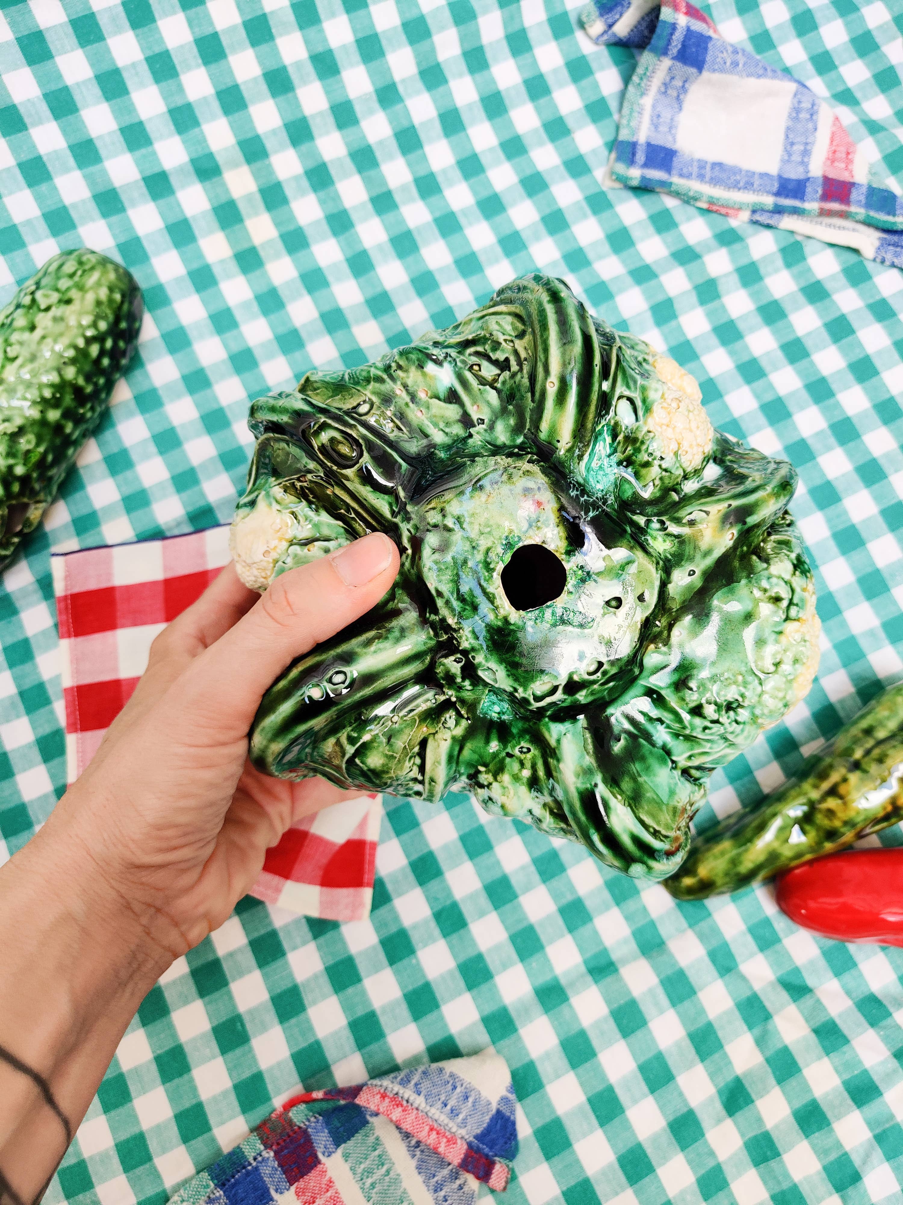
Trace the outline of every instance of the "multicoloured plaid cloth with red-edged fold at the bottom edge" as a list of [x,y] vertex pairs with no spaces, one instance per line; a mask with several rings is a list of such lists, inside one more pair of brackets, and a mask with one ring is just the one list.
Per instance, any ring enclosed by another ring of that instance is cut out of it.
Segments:
[[510,1072],[485,1051],[302,1092],[170,1205],[471,1205],[508,1187],[517,1153]]

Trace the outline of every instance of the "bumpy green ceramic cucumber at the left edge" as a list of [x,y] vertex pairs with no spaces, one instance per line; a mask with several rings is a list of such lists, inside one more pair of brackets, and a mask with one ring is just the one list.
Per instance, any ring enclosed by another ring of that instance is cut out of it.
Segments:
[[104,413],[142,312],[136,281],[96,251],[48,259],[0,310],[0,570]]

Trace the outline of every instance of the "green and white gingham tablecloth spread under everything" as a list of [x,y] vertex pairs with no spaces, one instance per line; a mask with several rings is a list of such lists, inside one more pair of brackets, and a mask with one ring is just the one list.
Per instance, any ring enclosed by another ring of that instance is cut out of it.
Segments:
[[[710,14],[899,175],[886,5]],[[537,268],[799,470],[821,672],[716,776],[712,809],[755,803],[903,672],[903,272],[604,193],[635,55],[576,19],[565,0],[0,5],[0,304],[87,245],[131,269],[148,310],[110,418],[4,578],[10,852],[65,774],[48,551],[225,519],[249,398]],[[492,1045],[520,1100],[510,1205],[899,1201],[902,971],[903,951],[816,940],[767,890],[678,906],[466,799],[390,801],[372,919],[243,900],[142,1005],[47,1199],[163,1201],[299,1082]]]

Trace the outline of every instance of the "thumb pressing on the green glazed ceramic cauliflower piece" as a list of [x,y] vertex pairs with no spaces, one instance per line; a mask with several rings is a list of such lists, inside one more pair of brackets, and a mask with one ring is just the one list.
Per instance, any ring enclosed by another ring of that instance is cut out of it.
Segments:
[[179,736],[216,734],[217,743],[247,736],[279,674],[376,606],[397,571],[399,549],[377,531],[281,574],[173,684]]

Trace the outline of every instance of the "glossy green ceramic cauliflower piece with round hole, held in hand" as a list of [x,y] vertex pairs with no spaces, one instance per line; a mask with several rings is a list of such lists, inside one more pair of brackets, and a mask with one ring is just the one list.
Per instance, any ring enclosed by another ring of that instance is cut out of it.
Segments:
[[243,580],[386,531],[382,604],[272,686],[252,758],[439,800],[662,878],[715,766],[809,689],[796,476],[691,376],[530,276],[443,331],[255,401]]

